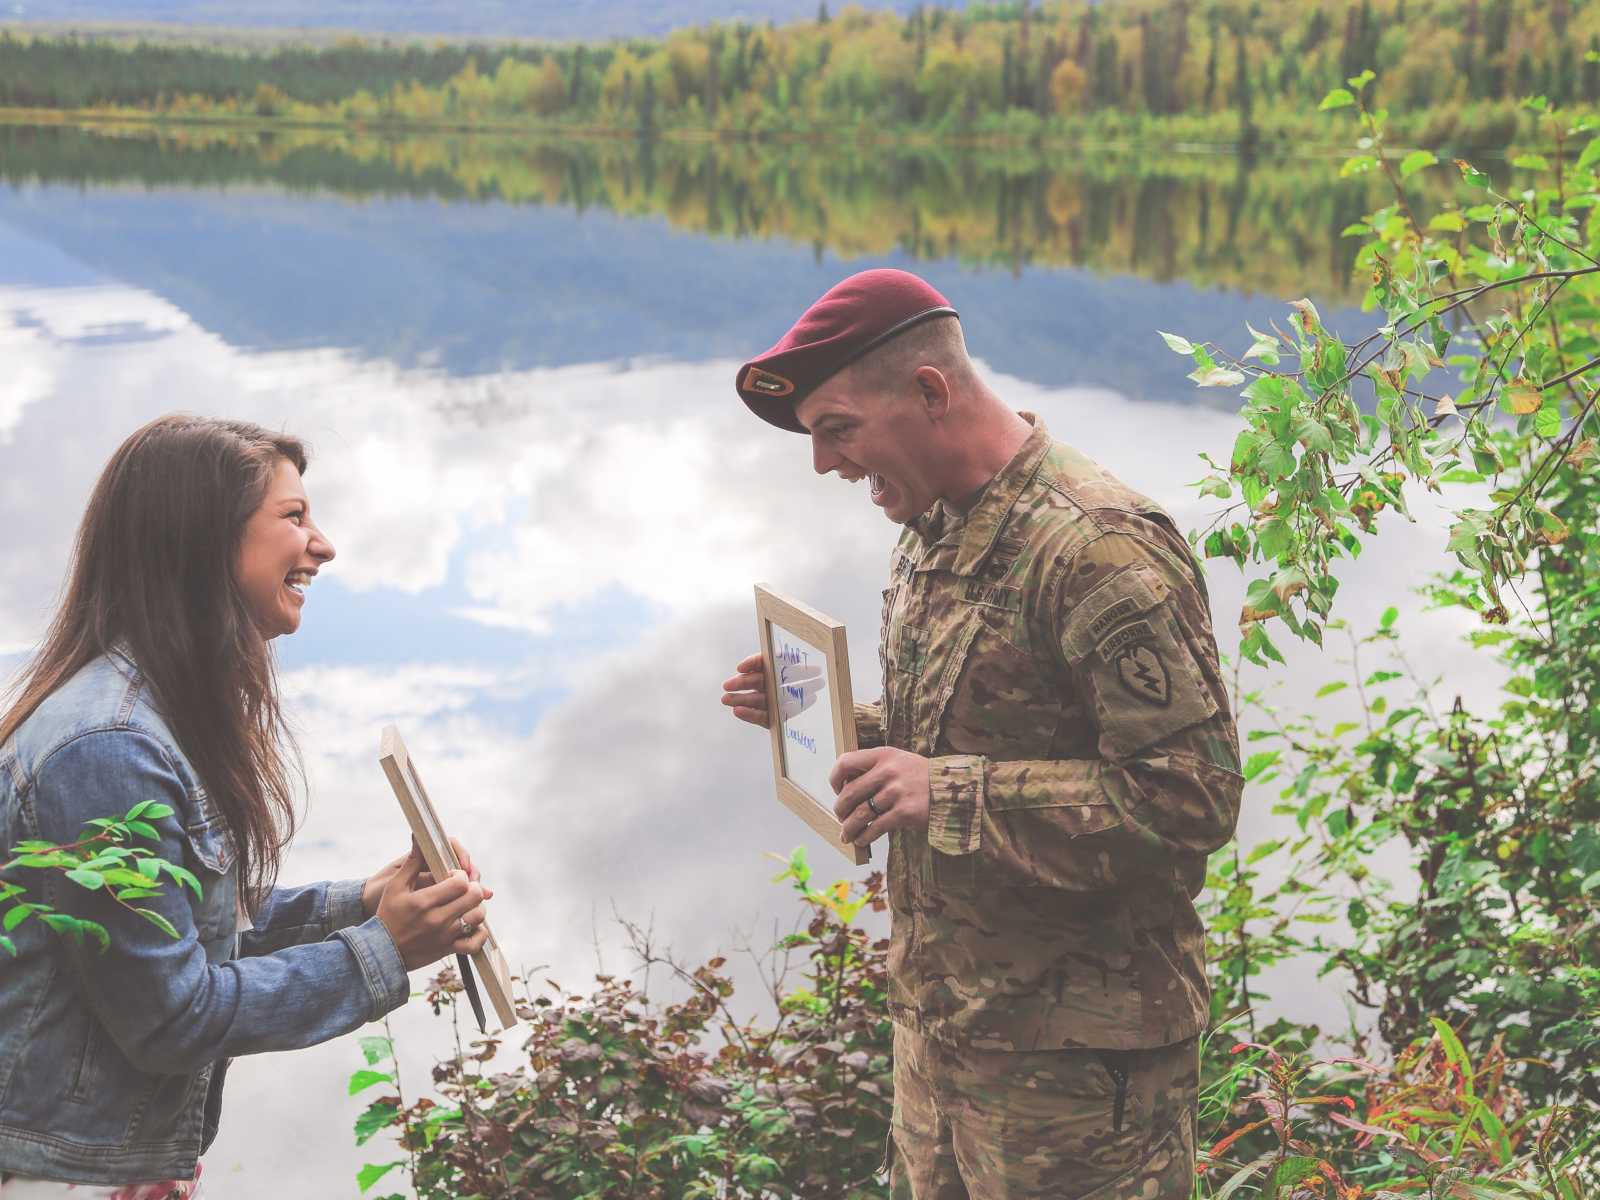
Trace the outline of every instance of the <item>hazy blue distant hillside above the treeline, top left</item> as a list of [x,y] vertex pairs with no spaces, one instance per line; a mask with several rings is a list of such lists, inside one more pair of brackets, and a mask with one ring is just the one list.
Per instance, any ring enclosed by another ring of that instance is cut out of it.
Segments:
[[[858,3],[901,13],[915,6],[915,0]],[[654,37],[710,21],[784,24],[816,14],[818,0],[0,0],[0,27],[205,26],[557,40]]]

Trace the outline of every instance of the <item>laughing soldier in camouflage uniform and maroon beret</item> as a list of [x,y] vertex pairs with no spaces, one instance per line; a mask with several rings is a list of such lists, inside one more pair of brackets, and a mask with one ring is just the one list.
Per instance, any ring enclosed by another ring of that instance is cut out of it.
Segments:
[[[845,837],[888,835],[893,1197],[1186,1200],[1194,898],[1243,789],[1189,546],[1006,408],[907,272],[846,278],[736,386],[906,526],[830,778]],[[758,654],[722,701],[766,725]]]

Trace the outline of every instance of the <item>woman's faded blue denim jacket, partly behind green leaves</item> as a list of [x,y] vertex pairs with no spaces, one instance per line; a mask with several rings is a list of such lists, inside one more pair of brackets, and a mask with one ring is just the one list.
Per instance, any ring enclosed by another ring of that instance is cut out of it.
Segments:
[[[192,870],[134,901],[170,938],[58,872],[14,869],[29,898],[94,920],[110,949],[29,918],[0,949],[0,1170],[86,1184],[189,1179],[211,1144],[229,1058],[298,1050],[405,1003],[405,965],[362,909],[362,882],[277,888],[242,930],[226,821],[112,651],[56,690],[0,746],[0,861],[18,842],[70,843],[141,800],[173,810],[155,853]],[[142,843],[150,845],[150,843]]]

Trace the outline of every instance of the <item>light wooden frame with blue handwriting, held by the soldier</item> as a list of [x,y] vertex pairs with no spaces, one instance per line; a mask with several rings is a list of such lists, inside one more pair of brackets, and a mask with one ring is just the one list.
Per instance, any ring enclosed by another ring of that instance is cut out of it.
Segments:
[[[856,749],[856,704],[850,691],[845,626],[766,584],[755,586],[755,624],[766,669],[778,798],[859,867],[870,861],[870,850],[843,838],[840,821],[834,816],[834,792],[827,786],[827,773],[838,755]],[[811,661],[813,656],[816,661]],[[821,707],[818,698],[826,701],[830,720],[816,712]],[[822,744],[824,734],[830,734],[832,746]],[[792,752],[787,749],[790,744]]]

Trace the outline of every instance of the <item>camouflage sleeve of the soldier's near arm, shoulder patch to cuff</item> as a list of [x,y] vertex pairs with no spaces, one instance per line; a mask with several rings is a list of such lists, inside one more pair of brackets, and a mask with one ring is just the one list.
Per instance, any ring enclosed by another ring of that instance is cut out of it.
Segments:
[[998,880],[1099,891],[1168,875],[1238,821],[1238,734],[1187,563],[1102,534],[1059,563],[1042,635],[1093,714],[1098,758],[934,758],[928,840]]

